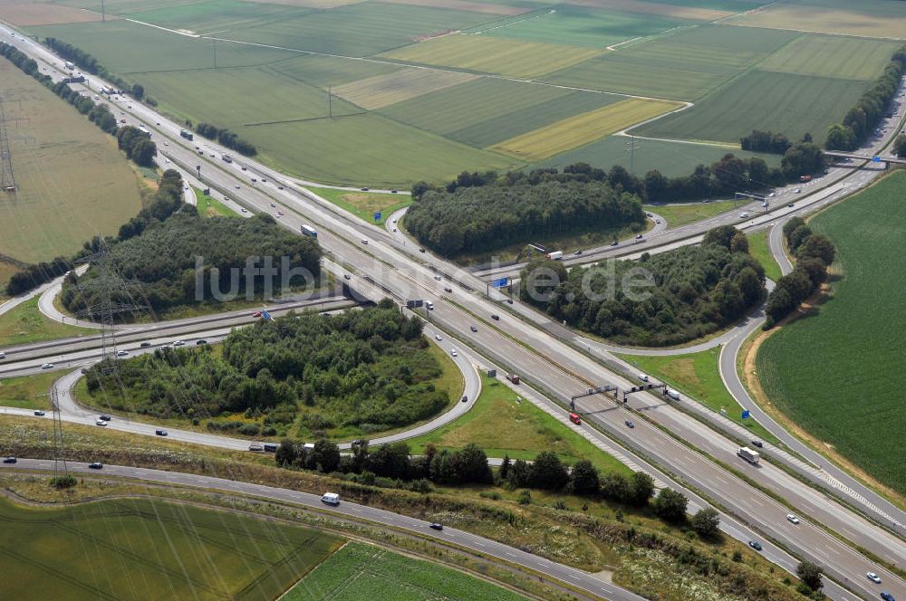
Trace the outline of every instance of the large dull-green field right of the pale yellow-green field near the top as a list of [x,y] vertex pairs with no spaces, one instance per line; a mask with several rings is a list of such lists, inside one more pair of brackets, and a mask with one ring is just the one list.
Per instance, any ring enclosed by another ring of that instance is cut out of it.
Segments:
[[764,29],[701,26],[627,45],[543,79],[594,90],[697,100],[795,36]]

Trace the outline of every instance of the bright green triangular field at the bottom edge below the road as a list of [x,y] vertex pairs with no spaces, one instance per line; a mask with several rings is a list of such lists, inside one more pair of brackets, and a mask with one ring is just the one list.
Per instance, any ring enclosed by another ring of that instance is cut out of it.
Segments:
[[282,598],[283,601],[509,601],[525,597],[453,568],[361,542],[349,542]]

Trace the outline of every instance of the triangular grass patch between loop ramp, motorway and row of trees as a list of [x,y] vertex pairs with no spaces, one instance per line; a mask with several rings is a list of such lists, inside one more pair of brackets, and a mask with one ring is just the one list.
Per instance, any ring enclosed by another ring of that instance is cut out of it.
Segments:
[[631,473],[628,467],[574,433],[571,426],[561,424],[525,399],[516,403],[516,393],[487,376],[482,376],[481,395],[466,415],[406,442],[412,453],[420,453],[428,444],[459,449],[468,443],[477,444],[487,456],[497,458],[509,455],[512,459],[535,459],[542,451],[554,451],[567,463],[587,459],[603,472]]

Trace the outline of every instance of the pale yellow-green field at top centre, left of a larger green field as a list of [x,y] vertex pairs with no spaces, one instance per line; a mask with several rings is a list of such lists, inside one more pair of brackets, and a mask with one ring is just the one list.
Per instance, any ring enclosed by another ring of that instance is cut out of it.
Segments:
[[381,56],[400,62],[532,78],[601,53],[593,48],[458,34],[415,43]]

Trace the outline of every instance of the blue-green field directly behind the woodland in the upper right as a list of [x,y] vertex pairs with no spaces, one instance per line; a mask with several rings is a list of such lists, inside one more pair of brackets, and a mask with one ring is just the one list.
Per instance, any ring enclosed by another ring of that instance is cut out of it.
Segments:
[[[563,154],[541,161],[533,167],[564,167],[572,163],[584,162],[605,169],[614,165],[622,165],[627,169],[632,167],[632,172],[637,176],[644,176],[651,169],[657,169],[665,176],[688,176],[695,167],[701,164],[710,165],[727,153],[744,158],[762,157],[770,166],[780,165],[778,155],[746,152],[730,145],[723,147],[636,138],[634,142],[636,149],[632,155],[630,155],[630,145],[631,138],[611,136],[583,147],[567,150]],[[651,198],[652,202],[657,200],[657,198]]]

